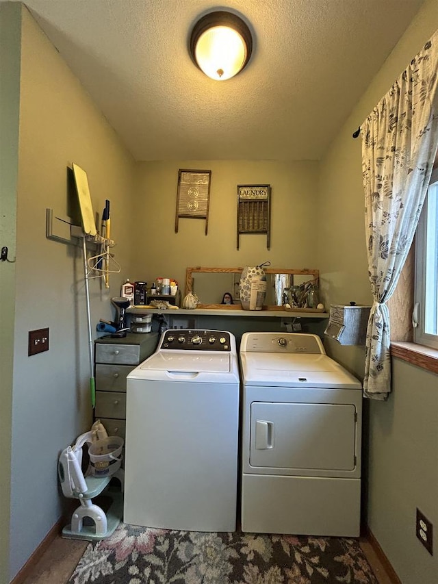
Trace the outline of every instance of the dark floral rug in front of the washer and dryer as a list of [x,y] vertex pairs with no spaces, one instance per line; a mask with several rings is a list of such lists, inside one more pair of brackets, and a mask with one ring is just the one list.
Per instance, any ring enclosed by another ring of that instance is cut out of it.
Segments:
[[121,523],[88,544],[69,584],[378,584],[346,537],[165,531]]

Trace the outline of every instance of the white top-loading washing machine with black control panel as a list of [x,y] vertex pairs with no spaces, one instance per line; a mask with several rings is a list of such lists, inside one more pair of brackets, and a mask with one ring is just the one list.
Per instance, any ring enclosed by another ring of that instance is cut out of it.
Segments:
[[235,531],[239,394],[231,333],[163,333],[127,377],[125,523]]

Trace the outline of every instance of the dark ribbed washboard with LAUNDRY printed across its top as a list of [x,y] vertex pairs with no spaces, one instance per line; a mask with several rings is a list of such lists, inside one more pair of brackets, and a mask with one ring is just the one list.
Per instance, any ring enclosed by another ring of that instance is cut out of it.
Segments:
[[237,249],[239,236],[248,233],[266,233],[270,249],[270,214],[270,185],[237,185]]

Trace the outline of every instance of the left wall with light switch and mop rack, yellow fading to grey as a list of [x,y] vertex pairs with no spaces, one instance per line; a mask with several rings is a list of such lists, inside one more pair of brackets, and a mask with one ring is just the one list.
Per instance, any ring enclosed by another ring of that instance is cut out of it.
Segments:
[[[89,429],[90,361],[81,249],[45,237],[46,208],[77,211],[68,169],[88,173],[94,212],[112,205],[116,259],[131,270],[133,159],[59,53],[22,9],[12,409],[10,575],[60,518],[57,457]],[[3,268],[3,266],[1,266]],[[93,337],[113,318],[110,289],[90,281]],[[49,327],[49,351],[27,357],[28,331]],[[1,579],[1,581],[5,581]]]

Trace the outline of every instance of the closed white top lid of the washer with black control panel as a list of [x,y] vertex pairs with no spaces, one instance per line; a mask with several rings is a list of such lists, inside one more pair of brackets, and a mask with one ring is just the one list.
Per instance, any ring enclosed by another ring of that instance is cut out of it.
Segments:
[[[212,354],[207,351],[199,351],[199,353],[158,351],[140,363],[134,371],[144,379],[148,379],[148,372],[153,371],[229,373],[231,372],[231,357],[229,353]],[[140,372],[144,372],[144,376]]]

